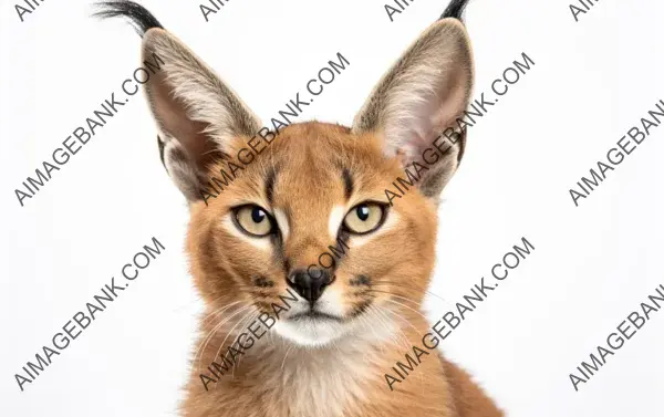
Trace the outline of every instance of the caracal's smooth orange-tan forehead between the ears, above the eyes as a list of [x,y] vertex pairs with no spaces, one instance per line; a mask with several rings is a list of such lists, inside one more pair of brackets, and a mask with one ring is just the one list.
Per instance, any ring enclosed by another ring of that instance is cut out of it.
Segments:
[[[263,198],[270,206],[328,208],[355,197],[384,199],[397,165],[383,157],[373,135],[353,135],[347,127],[293,124],[277,135],[243,171],[229,192]],[[230,197],[230,196],[229,196]]]

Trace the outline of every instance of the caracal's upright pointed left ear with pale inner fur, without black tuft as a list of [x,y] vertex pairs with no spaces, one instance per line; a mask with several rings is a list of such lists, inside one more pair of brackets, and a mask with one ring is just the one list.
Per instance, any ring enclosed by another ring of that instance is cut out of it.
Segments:
[[142,53],[144,62],[158,66],[145,91],[159,129],[164,166],[189,202],[203,199],[207,167],[234,152],[235,138],[256,135],[260,119],[164,29],[145,32]]

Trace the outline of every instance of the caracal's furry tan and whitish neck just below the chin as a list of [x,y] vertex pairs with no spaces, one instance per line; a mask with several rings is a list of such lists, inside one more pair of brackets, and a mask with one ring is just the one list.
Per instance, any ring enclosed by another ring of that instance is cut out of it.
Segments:
[[205,337],[199,341],[191,400],[229,409],[238,404],[257,409],[269,405],[277,407],[269,414],[274,416],[362,415],[372,393],[390,393],[385,373],[404,361],[404,353],[428,326],[417,311],[392,313],[371,309],[349,325],[345,335],[321,346],[284,338],[278,321],[236,320],[216,331],[216,323],[204,322],[204,334],[211,337],[207,344]]

